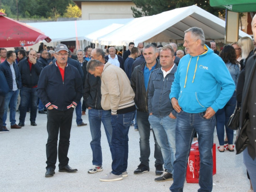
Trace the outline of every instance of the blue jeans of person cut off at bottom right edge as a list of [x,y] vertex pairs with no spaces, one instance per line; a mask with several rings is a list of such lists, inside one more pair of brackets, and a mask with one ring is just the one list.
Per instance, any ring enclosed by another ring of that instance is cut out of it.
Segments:
[[253,190],[256,189],[256,158],[254,160],[248,154],[248,147],[243,151],[244,164],[246,166],[247,172],[250,176],[251,185]]

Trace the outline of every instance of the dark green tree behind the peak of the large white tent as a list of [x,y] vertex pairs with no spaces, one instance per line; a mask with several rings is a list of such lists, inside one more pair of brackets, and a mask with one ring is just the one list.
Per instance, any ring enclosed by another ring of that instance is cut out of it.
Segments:
[[141,16],[149,16],[156,15],[162,13],[164,11],[173,10],[176,8],[187,7],[191,5],[197,5],[198,7],[214,14],[216,16],[225,14],[225,9],[214,8],[209,4],[209,0],[132,0],[136,5],[138,10],[132,7],[133,16],[141,17]]

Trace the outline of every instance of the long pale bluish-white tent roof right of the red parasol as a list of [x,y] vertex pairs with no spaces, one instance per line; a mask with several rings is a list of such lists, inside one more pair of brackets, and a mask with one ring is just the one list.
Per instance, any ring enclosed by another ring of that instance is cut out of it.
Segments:
[[[85,40],[85,36],[95,31],[111,26],[113,24],[126,24],[134,18],[127,19],[101,19],[101,20],[78,20],[71,22],[45,22],[45,23],[29,23],[52,39],[52,42]],[[119,26],[120,27],[120,26]],[[117,28],[115,28],[117,29]],[[108,32],[111,32],[109,30]],[[100,36],[106,33],[98,34]]]

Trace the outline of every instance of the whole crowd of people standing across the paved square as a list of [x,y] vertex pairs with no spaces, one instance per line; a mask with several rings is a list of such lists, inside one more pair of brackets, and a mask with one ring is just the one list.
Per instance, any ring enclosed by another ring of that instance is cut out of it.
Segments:
[[[256,38],[256,16],[252,29]],[[38,113],[47,114],[45,177],[54,176],[57,156],[59,172],[75,173],[77,169],[69,166],[68,158],[73,112],[77,126],[84,126],[87,123],[82,122],[81,116],[88,110],[93,154],[89,174],[103,170],[102,122],[112,155],[112,170],[100,181],[128,176],[128,133],[134,125],[140,135],[140,163],[134,174],[150,171],[153,133],[158,175],[155,181],[173,180],[170,191],[182,191],[190,146],[198,142],[198,191],[211,191],[215,127],[219,152],[234,152],[233,130],[227,123],[236,106],[241,106],[236,151],[243,152],[251,190],[256,188],[253,41],[243,37],[219,52],[214,40],[205,41],[202,29],[192,27],[184,33],[184,50],[178,50],[175,43],[144,47],[141,42],[135,47],[130,42],[122,56],[115,47],[76,50],[74,46],[59,44],[53,49],[41,43],[38,52],[1,49],[0,132],[9,132],[8,109],[11,129],[20,129],[25,126],[28,110],[31,125],[37,125],[38,108]]]

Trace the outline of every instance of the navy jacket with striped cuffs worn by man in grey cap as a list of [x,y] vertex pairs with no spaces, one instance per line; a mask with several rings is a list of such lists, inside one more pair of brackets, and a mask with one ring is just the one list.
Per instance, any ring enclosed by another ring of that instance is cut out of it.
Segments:
[[42,69],[38,80],[37,95],[42,103],[52,105],[56,110],[65,111],[75,106],[82,98],[82,79],[78,70],[67,64],[64,81],[56,63]]

